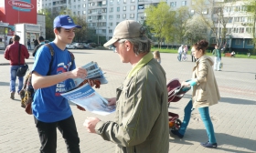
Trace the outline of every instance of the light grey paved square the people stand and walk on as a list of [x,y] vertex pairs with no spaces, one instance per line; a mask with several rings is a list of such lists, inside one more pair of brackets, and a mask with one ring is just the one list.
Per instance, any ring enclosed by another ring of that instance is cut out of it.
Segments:
[[[131,69],[130,64],[122,64],[119,56],[111,50],[71,50],[76,58],[77,66],[90,61],[98,62],[109,83],[96,89],[103,97],[115,97],[115,88],[123,82],[124,76]],[[1,153],[36,153],[39,152],[39,138],[33,116],[28,116],[20,107],[16,94],[15,100],[10,99],[9,66],[0,50],[0,152]],[[179,78],[187,80],[192,76],[194,63],[178,62],[176,54],[161,54],[162,66],[167,80]],[[222,57],[222,71],[215,71],[219,85],[221,100],[218,105],[210,107],[210,116],[219,144],[217,149],[203,148],[200,142],[208,140],[206,129],[194,110],[184,138],[170,137],[169,152],[177,153],[208,153],[208,152],[256,152],[256,60]],[[27,60],[32,68],[32,56]],[[187,105],[191,91],[177,103],[171,103],[169,111],[183,118],[183,108]],[[112,153],[112,142],[90,134],[82,124],[86,117],[100,117],[101,120],[113,120],[114,114],[102,117],[82,112],[71,106],[80,135],[82,153]],[[66,153],[66,145],[58,132],[58,153]]]

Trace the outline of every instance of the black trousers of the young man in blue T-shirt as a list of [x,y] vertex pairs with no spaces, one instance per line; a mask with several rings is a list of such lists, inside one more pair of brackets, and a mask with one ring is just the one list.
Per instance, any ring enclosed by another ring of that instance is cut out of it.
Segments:
[[73,116],[53,123],[41,122],[34,118],[41,142],[40,153],[56,153],[57,128],[65,139],[68,153],[80,153],[80,138]]

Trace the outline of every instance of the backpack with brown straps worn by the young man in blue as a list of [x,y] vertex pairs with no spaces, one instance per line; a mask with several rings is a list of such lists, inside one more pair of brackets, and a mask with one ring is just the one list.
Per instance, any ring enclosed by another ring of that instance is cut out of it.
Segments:
[[[50,67],[52,66],[52,62],[53,62],[54,50],[53,50],[53,47],[50,46],[49,44],[46,44],[45,46],[48,46],[50,55],[51,55],[51,60],[49,63],[49,70],[48,70],[48,74],[47,74],[47,76],[49,76],[50,75]],[[69,54],[71,56],[71,63],[73,64],[75,56],[71,52],[69,52]],[[33,97],[34,97],[34,92],[35,92],[35,90],[32,86],[32,83],[31,83],[31,79],[32,79],[32,72],[29,72],[29,74],[26,76],[25,84],[19,92],[19,95],[21,98],[21,107],[24,107],[25,111],[29,115],[32,114],[31,104],[33,102]]]

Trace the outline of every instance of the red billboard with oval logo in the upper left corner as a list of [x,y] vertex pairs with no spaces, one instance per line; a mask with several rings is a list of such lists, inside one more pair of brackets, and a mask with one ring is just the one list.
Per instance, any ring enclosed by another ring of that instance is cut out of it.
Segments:
[[37,1],[36,0],[1,0],[0,19],[10,26],[15,24],[37,25]]

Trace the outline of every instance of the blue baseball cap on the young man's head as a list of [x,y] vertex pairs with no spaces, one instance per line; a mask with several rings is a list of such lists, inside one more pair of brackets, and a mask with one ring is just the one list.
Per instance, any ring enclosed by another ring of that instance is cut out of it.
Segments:
[[54,22],[53,22],[53,27],[63,27],[66,29],[70,29],[73,27],[78,27],[81,28],[81,26],[77,26],[74,24],[73,19],[69,15],[59,15],[55,17]]

